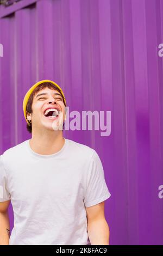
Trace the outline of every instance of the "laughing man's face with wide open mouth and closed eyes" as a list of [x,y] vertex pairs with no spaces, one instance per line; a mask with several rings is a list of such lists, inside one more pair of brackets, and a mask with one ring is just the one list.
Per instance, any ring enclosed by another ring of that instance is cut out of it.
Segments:
[[[48,109],[51,109],[49,111]],[[33,98],[32,129],[58,130],[65,119],[65,105],[61,94],[55,89],[44,88]],[[60,129],[62,130],[62,129]]]

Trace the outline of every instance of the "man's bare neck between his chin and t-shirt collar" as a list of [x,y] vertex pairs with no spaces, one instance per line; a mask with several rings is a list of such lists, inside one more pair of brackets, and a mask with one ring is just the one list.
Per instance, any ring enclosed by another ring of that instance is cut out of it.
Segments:
[[29,141],[30,148],[41,155],[55,154],[61,150],[65,144],[62,131],[46,130],[43,132],[32,131],[32,138]]

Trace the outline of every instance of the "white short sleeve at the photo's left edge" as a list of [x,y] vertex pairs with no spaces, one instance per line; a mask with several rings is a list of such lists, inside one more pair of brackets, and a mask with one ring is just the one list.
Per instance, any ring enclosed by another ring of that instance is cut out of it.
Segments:
[[0,202],[10,200],[10,193],[7,189],[7,175],[3,165],[2,156],[0,156]]

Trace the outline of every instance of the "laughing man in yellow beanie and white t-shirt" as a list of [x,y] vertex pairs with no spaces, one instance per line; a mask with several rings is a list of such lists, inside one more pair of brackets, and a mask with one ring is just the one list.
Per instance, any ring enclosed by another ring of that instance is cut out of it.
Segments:
[[0,245],[109,245],[103,166],[94,149],[63,137],[65,108],[50,80],[24,97],[32,138],[0,156]]

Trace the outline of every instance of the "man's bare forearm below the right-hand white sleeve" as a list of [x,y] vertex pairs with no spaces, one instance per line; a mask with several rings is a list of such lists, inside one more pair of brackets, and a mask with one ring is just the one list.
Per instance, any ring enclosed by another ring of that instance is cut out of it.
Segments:
[[105,220],[104,202],[86,207],[87,233],[91,245],[109,245],[109,226]]

